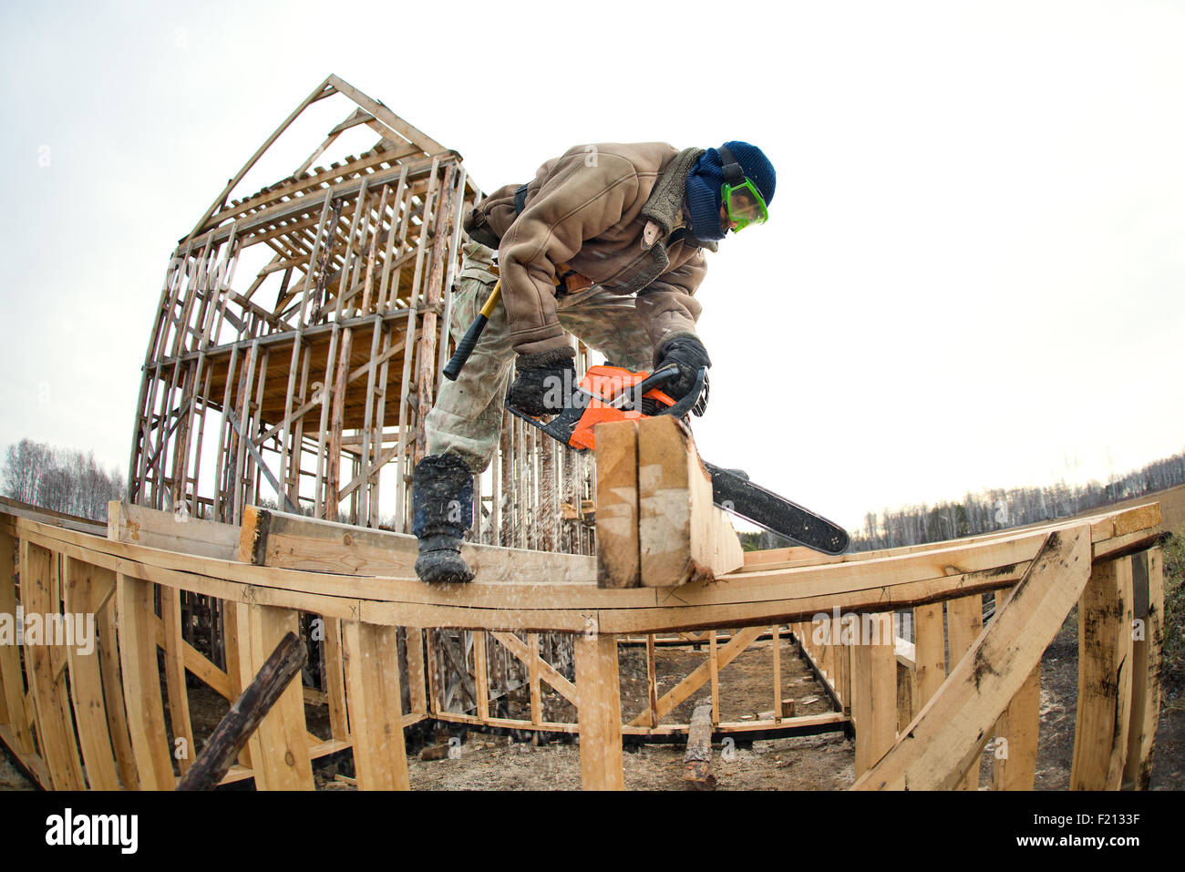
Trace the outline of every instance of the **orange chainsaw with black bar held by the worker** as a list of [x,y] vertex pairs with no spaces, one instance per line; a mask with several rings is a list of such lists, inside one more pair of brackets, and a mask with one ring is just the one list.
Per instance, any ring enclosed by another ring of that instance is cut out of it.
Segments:
[[[510,398],[506,408],[563,444],[587,451],[596,447],[594,428],[597,424],[656,415],[683,418],[692,411],[704,392],[707,370],[702,367],[696,385],[683,399],[675,400],[664,393],[662,387],[678,377],[679,367],[674,364],[653,373],[630,372],[619,366],[590,366],[579,385],[564,385],[564,409],[551,421],[515,409]],[[754,485],[739,470],[707,462],[704,468],[712,477],[712,502],[726,512],[815,551],[839,554],[847,550],[847,531],[833,521]]]

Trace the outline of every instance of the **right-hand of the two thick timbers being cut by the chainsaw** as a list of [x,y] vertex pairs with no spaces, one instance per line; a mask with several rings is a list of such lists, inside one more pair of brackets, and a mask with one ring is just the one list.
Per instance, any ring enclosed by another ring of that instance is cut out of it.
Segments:
[[638,505],[643,588],[710,581],[744,564],[696,443],[668,415],[638,422]]

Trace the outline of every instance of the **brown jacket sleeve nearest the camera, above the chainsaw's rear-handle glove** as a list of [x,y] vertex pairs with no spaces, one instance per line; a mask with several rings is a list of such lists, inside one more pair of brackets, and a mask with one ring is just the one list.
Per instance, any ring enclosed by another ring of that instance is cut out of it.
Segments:
[[530,203],[498,249],[510,340],[519,354],[570,357],[556,310],[556,264],[585,239],[621,220],[639,195],[634,165],[601,153],[589,166],[583,148],[540,167]]

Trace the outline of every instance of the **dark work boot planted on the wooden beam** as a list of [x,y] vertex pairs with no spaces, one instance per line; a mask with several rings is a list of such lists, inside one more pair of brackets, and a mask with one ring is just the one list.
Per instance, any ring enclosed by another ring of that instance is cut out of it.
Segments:
[[473,581],[461,559],[461,540],[473,524],[473,473],[451,454],[430,454],[411,479],[411,532],[419,539],[416,575],[423,582]]

